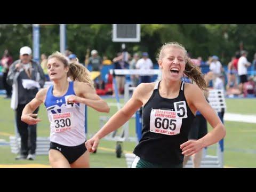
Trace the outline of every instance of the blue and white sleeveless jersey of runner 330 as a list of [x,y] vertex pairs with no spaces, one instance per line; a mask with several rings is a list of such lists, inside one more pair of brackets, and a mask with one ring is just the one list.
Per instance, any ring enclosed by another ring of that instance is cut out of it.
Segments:
[[85,142],[85,105],[67,103],[70,95],[76,95],[74,82],[69,82],[68,91],[61,97],[52,94],[49,87],[44,105],[51,123],[50,141],[64,146],[78,146]]

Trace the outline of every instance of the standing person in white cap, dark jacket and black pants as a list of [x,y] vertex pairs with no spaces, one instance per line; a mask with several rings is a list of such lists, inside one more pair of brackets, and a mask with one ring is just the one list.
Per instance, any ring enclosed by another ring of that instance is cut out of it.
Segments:
[[[12,63],[7,75],[7,83],[13,86],[11,108],[15,110],[16,125],[21,138],[20,155],[15,159],[34,160],[36,154],[36,125],[21,121],[23,108],[35,98],[38,89],[45,82],[43,69],[31,60],[31,53],[30,47],[21,47],[20,59]],[[38,108],[35,110],[37,112]]]

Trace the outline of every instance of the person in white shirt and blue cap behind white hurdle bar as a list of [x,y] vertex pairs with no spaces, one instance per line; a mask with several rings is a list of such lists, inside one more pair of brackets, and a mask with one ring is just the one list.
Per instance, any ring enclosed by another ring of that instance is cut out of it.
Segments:
[[[151,61],[151,59],[148,58],[147,52],[142,53],[142,58],[137,61],[136,68],[141,70],[153,69],[153,62]],[[150,83],[150,82],[151,82],[151,79],[149,75],[140,76],[140,83]]]

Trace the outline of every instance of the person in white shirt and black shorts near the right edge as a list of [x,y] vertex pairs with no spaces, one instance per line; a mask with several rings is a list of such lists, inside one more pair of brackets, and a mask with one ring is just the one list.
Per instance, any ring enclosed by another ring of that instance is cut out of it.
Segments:
[[237,74],[240,77],[240,84],[239,84],[239,89],[241,91],[244,90],[244,83],[247,82],[247,67],[251,66],[251,63],[247,61],[247,51],[241,51],[241,57],[238,60],[238,65],[237,65]]

